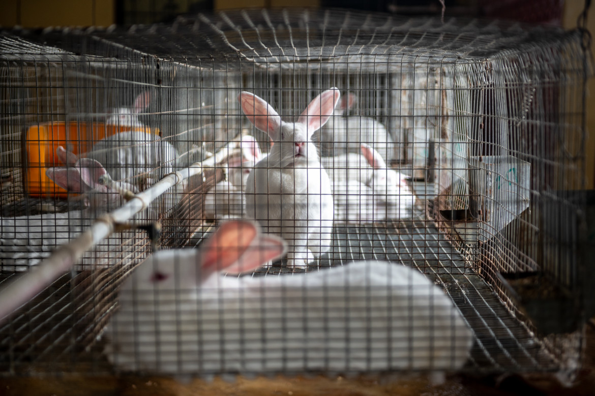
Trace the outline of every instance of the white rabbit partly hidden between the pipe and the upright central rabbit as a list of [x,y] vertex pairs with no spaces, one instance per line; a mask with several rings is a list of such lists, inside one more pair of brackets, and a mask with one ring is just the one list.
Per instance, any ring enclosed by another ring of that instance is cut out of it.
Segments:
[[250,135],[240,141],[241,157],[234,157],[227,164],[227,179],[218,182],[205,195],[206,218],[245,217],[246,182],[254,165],[265,156],[258,142]]

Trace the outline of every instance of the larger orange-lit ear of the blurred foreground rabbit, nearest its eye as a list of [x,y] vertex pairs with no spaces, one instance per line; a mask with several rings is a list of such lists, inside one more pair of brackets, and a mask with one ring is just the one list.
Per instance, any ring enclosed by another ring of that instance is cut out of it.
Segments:
[[246,252],[258,235],[256,225],[250,221],[234,220],[221,224],[217,231],[201,246],[199,265],[202,276],[227,271]]

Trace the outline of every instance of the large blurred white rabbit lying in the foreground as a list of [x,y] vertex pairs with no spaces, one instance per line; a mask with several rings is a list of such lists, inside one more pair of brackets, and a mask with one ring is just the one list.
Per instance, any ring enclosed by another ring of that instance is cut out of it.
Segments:
[[464,365],[472,331],[443,290],[412,268],[359,261],[315,273],[230,275],[283,248],[236,220],[199,249],[149,256],[121,287],[105,332],[109,361],[180,376]]

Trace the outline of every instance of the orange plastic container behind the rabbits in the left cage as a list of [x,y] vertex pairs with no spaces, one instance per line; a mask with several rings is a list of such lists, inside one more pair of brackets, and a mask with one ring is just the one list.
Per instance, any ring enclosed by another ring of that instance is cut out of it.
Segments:
[[84,153],[91,150],[96,141],[127,131],[159,134],[159,129],[107,125],[102,122],[45,122],[30,126],[24,132],[27,194],[31,197],[67,198],[66,190],[58,187],[45,174],[48,167],[65,165],[58,160],[58,146],[84,157]]

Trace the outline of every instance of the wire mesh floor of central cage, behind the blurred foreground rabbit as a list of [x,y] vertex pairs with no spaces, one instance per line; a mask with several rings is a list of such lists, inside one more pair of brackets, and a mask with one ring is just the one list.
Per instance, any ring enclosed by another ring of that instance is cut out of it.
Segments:
[[[417,268],[443,287],[475,332],[475,344],[465,366],[483,372],[537,372],[558,369],[537,339],[503,305],[433,221],[336,224],[333,246],[306,268],[344,265],[357,260],[388,260]],[[256,271],[258,276],[289,272],[281,263]]]

